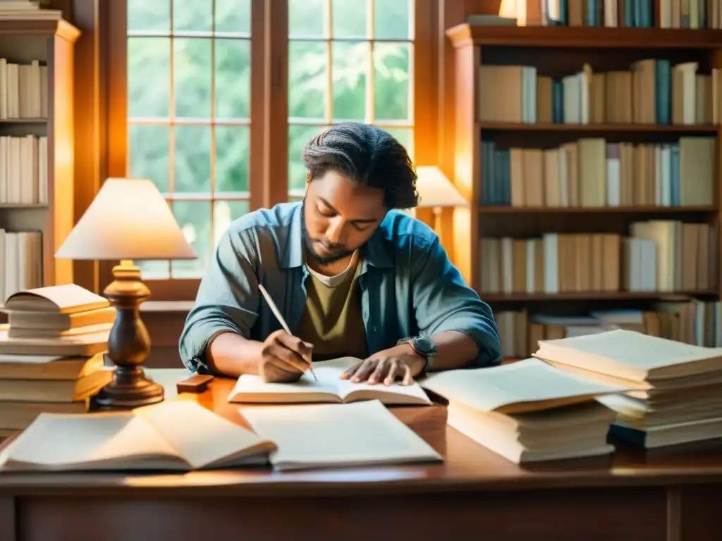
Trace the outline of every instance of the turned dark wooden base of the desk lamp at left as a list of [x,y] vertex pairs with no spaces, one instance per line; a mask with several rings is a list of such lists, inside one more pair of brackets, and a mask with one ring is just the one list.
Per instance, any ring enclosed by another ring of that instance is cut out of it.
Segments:
[[129,409],[162,402],[163,387],[141,368],[150,355],[150,336],[140,318],[140,304],[150,296],[150,290],[131,260],[122,260],[113,267],[113,278],[103,294],[117,310],[108,337],[108,356],[116,369],[113,381],[93,402],[99,409]]

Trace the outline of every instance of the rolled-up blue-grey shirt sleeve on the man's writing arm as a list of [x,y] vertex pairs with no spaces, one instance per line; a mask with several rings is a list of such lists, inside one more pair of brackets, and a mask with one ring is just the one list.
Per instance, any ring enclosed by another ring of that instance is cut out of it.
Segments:
[[181,333],[181,360],[191,371],[212,373],[206,351],[217,335],[251,334],[258,317],[254,237],[253,229],[228,229],[219,240]]

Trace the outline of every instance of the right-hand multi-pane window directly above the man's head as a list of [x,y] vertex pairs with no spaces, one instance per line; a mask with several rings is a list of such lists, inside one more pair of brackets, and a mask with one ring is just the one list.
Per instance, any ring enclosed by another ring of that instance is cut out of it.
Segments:
[[357,120],[412,154],[414,0],[288,1],[289,198],[303,198],[303,147]]

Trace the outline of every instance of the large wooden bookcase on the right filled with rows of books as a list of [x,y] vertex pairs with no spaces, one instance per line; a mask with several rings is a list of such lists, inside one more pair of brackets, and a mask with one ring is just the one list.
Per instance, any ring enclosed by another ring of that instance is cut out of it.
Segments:
[[[469,203],[454,211],[453,258],[495,314],[523,312],[524,325],[531,325],[531,314],[583,317],[605,309],[638,309],[645,317],[677,310],[679,320],[682,308],[670,308],[674,303],[697,303],[699,317],[716,314],[722,32],[462,24],[446,34],[454,48],[454,182]],[[691,77],[698,88],[684,87],[690,76],[674,67],[682,64],[695,64]],[[492,78],[509,72],[489,66],[520,71],[517,79],[497,84]],[[522,66],[533,68],[531,75]],[[650,66],[652,87],[650,72],[643,74]],[[622,72],[628,75],[616,75]],[[567,87],[575,75],[582,82]],[[554,92],[545,91],[540,79]],[[518,81],[521,91],[505,86],[509,81]],[[552,85],[561,87],[561,101]],[[578,103],[567,103],[567,95]],[[667,225],[664,239],[651,232],[658,224],[649,224],[656,222]],[[599,251],[601,235],[611,244]],[[493,245],[497,241],[501,247]],[[689,263],[697,257],[705,260]],[[550,268],[549,260],[557,263]],[[515,271],[519,261],[521,273]],[[549,279],[552,273],[556,277]],[[684,311],[688,319],[690,310]],[[689,341],[697,332],[699,342],[699,332],[690,331],[698,323],[684,325],[684,337],[674,331],[669,338]],[[534,332],[530,343],[539,338]]]

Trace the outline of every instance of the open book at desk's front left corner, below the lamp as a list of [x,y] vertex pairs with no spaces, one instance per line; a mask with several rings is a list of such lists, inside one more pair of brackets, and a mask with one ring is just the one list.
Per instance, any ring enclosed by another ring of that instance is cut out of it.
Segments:
[[0,470],[199,470],[267,464],[276,445],[190,400],[133,411],[41,413],[0,452]]

